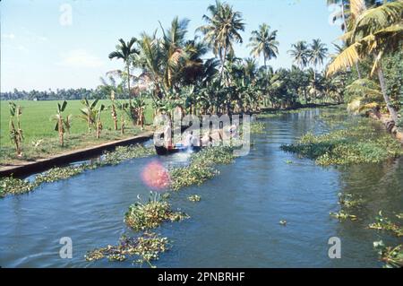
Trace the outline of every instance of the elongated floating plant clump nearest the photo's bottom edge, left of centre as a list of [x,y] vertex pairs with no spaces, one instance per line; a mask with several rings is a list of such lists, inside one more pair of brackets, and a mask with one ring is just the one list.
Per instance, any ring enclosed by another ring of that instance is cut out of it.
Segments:
[[159,254],[164,253],[169,248],[167,238],[161,238],[155,233],[143,233],[138,238],[120,238],[117,246],[101,247],[89,251],[85,255],[87,261],[94,261],[107,258],[109,261],[124,261],[128,256],[137,256],[135,260],[138,264],[151,264],[159,259]]

